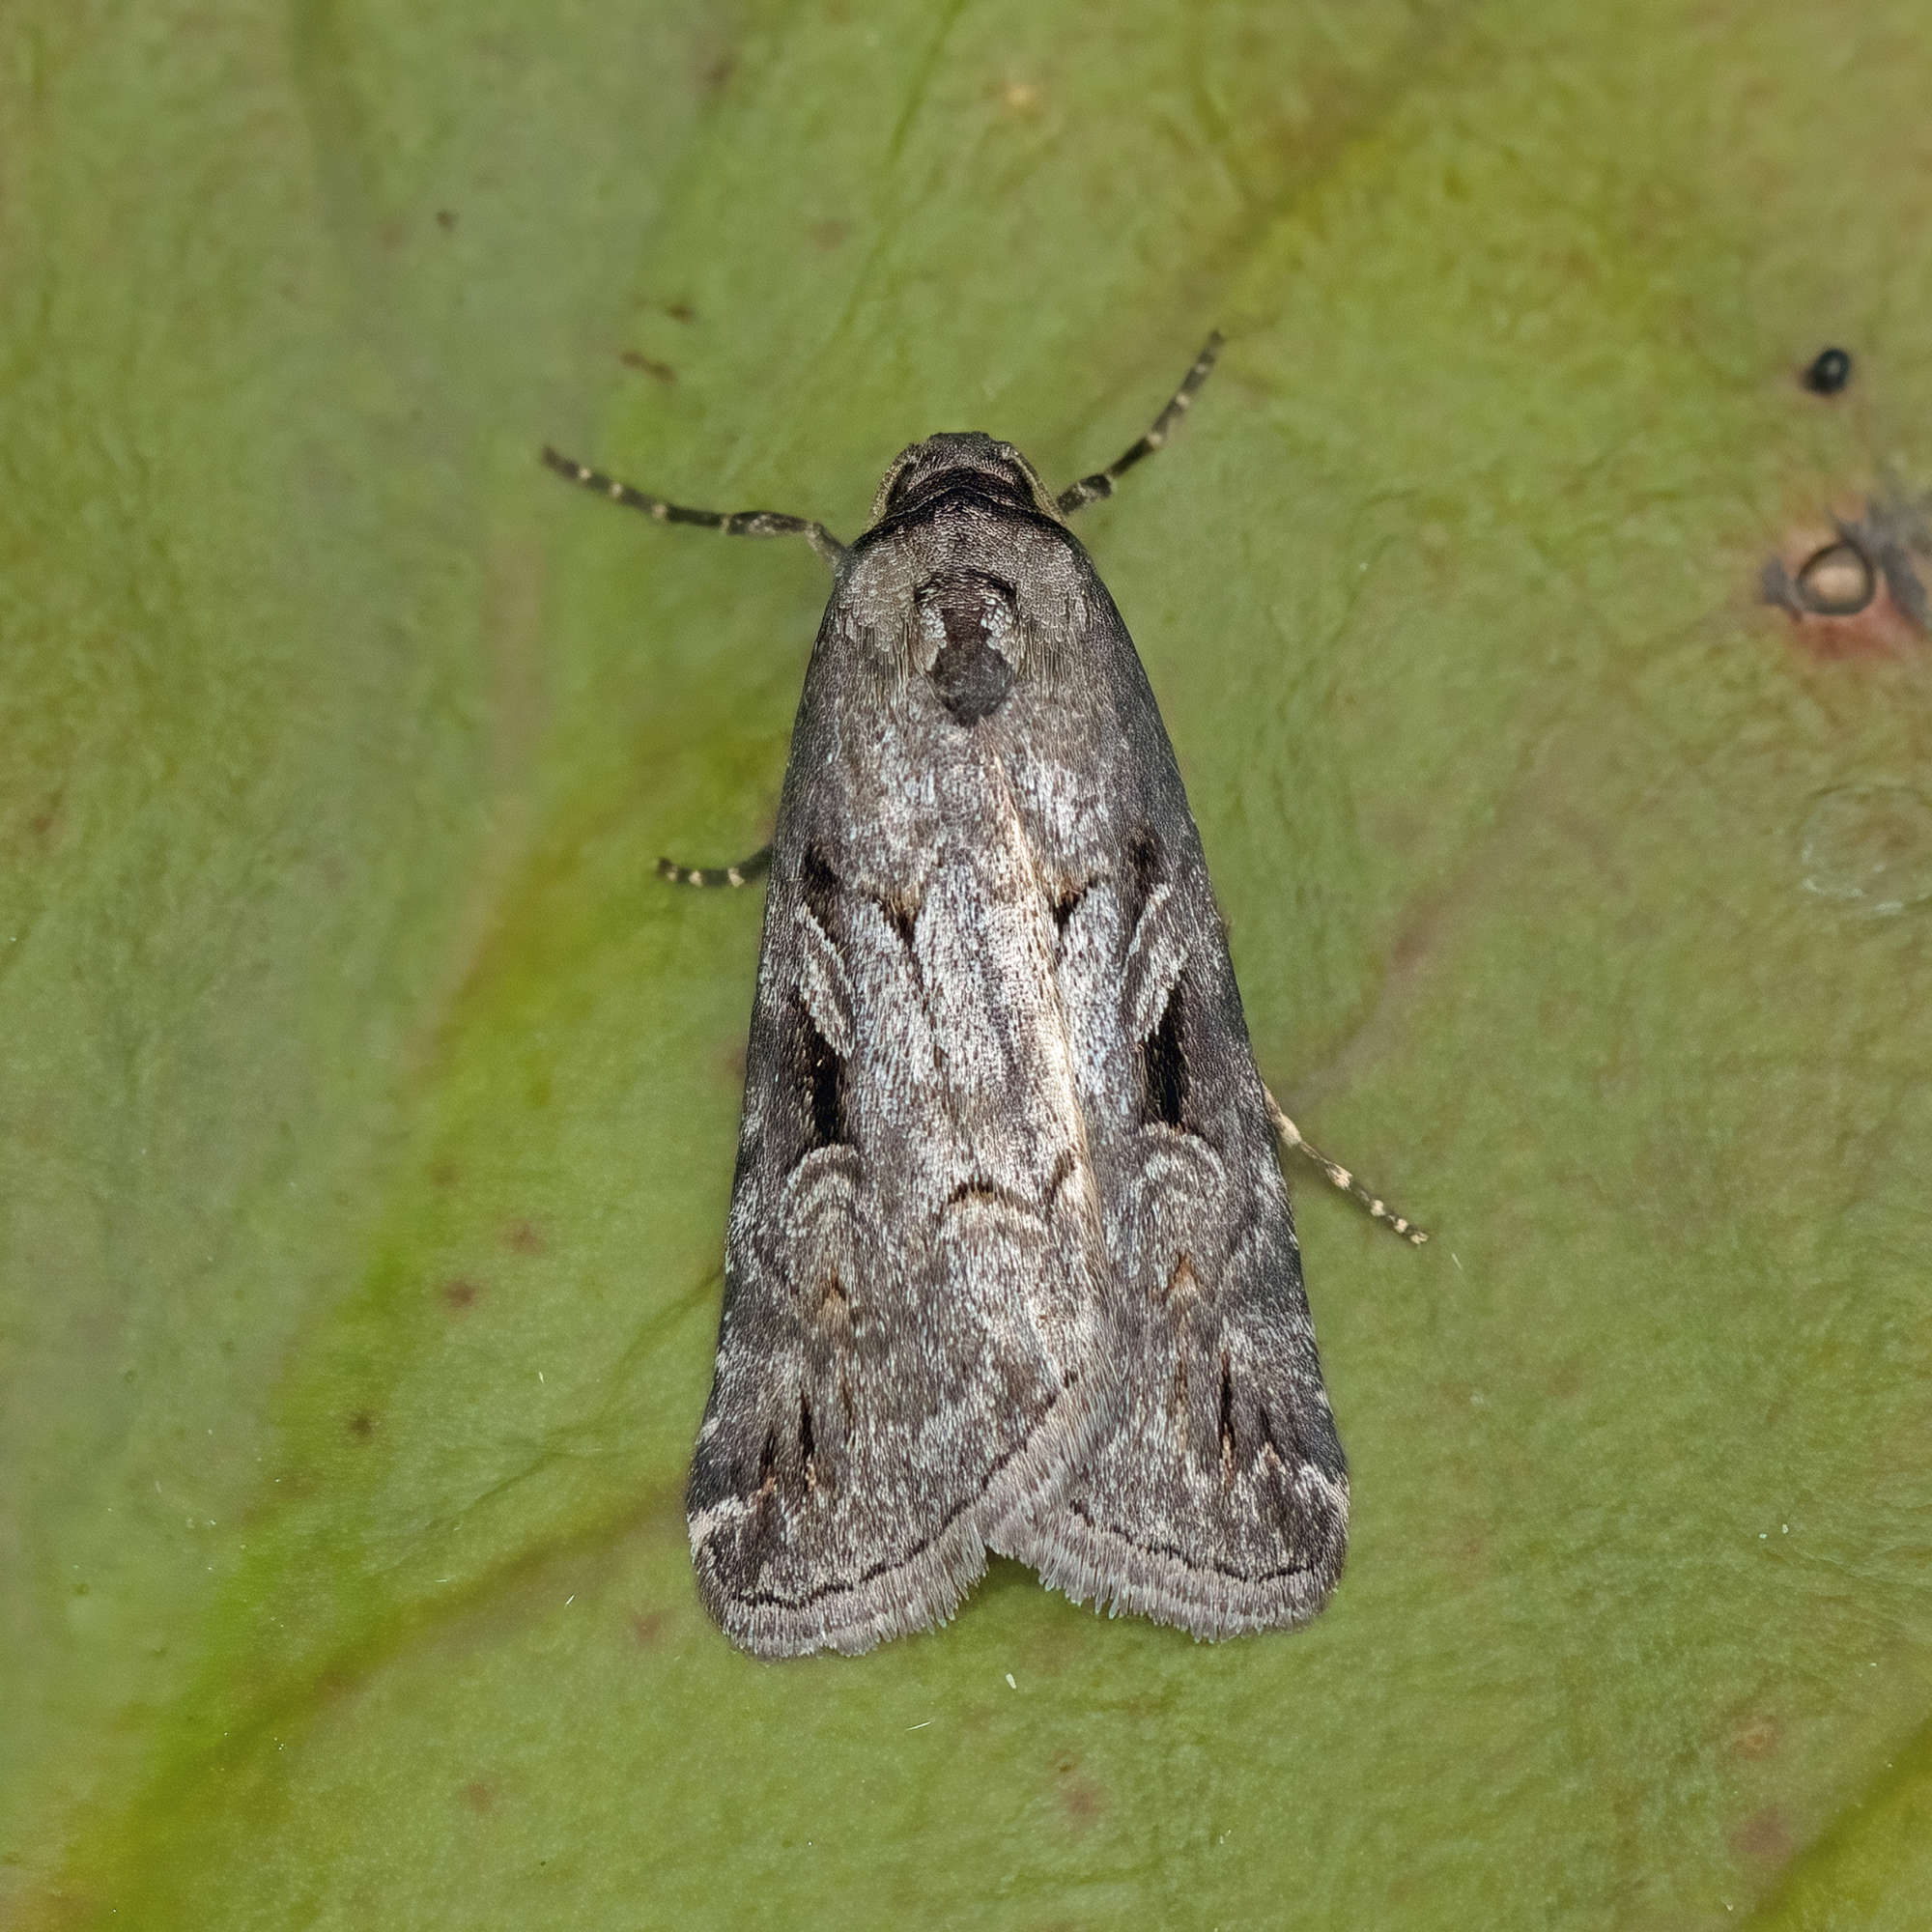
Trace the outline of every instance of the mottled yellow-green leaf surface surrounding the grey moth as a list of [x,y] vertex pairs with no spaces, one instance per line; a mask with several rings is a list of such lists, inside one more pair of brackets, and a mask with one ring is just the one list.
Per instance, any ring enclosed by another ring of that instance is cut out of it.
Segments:
[[[1932,643],[1760,595],[1932,493],[1922,4],[14,14],[0,1924],[1924,1922],[1932,898],[1843,881],[1932,879]],[[1349,1573],[753,1663],[759,895],[653,867],[767,837],[825,574],[537,450],[850,537],[1211,327],[1082,535],[1435,1235],[1291,1177]]]

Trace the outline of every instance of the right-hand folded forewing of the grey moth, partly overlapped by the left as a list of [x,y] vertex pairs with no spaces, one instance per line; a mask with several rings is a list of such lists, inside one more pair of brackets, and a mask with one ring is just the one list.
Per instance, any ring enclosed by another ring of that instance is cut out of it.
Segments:
[[1117,703],[1140,823],[1063,920],[1059,987],[1122,1376],[1065,1495],[993,1548],[1074,1602],[1233,1636],[1321,1607],[1349,1474],[1225,931],[1138,661],[1119,661]]

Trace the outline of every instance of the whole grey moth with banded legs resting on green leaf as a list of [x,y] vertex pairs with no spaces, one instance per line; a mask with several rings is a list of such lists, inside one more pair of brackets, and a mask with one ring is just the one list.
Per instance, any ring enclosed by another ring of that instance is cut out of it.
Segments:
[[804,537],[833,595],[769,866],[686,1511],[697,1590],[763,1658],[951,1617],[987,1551],[1198,1638],[1296,1625],[1341,1575],[1349,1464],[1227,931],[1134,643],[1068,527],[1153,427],[1051,495],[987,435]]

